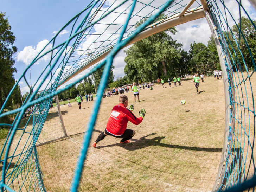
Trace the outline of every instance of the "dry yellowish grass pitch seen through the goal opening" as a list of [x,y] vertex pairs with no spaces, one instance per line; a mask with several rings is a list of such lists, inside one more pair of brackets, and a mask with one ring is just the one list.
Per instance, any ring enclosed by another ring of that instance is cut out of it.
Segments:
[[[191,81],[191,80],[188,80]],[[147,110],[128,145],[107,136],[90,146],[79,186],[80,191],[211,191],[222,152],[225,109],[223,81],[213,77],[172,89],[156,85],[140,91],[134,114]],[[186,100],[185,105],[180,101]],[[102,99],[91,143],[105,129],[118,97]],[[68,139],[37,147],[47,191],[68,191],[87,129],[93,102],[61,106]],[[72,136],[70,136],[72,135]]]

